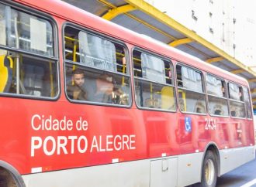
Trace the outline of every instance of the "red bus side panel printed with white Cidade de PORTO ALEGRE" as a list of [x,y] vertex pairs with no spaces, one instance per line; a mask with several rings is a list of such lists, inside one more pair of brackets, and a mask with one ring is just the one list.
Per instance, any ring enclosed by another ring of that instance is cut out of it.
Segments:
[[21,174],[178,155],[175,113],[0,97],[0,160]]

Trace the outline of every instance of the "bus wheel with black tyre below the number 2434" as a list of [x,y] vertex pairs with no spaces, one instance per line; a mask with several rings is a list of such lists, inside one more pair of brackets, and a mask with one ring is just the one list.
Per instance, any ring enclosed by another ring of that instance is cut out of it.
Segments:
[[202,187],[216,186],[217,177],[220,176],[220,154],[216,145],[209,145],[202,159],[201,170]]

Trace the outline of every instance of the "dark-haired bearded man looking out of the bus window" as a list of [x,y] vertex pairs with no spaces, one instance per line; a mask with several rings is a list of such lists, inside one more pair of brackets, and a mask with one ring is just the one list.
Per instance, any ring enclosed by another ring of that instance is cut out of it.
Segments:
[[67,96],[72,100],[87,100],[85,73],[82,70],[73,70],[72,84],[67,86]]

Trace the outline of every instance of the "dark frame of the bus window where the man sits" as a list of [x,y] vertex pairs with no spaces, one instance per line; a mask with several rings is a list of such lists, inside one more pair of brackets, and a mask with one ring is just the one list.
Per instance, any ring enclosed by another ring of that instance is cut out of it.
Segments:
[[[109,40],[110,42],[115,42],[116,44],[119,44],[120,46],[123,46],[124,52],[125,52],[125,57],[126,57],[126,73],[119,73],[119,72],[113,72],[113,71],[109,71],[109,70],[103,70],[103,69],[99,69],[99,68],[95,68],[92,66],[86,66],[86,65],[81,65],[81,63],[75,63],[71,60],[68,60],[65,58],[65,31],[64,29],[66,27],[71,27],[73,29],[77,29],[80,32],[86,32],[88,34],[91,34],[93,36],[97,36],[100,37],[102,39],[106,39]],[[123,42],[122,40],[116,39],[112,36],[109,36],[107,34],[104,34],[102,32],[96,31],[95,29],[92,28],[88,28],[88,26],[86,25],[78,25],[75,24],[73,22],[69,22],[66,21],[62,24],[62,28],[61,28],[61,33],[62,33],[62,48],[63,48],[63,69],[64,69],[64,94],[65,97],[67,98],[67,100],[73,104],[89,104],[89,105],[96,105],[96,106],[103,106],[103,107],[120,107],[120,108],[130,108],[133,106],[133,92],[132,92],[132,86],[131,86],[131,75],[130,75],[130,52],[129,52],[129,48],[128,46],[126,46],[126,42]],[[122,75],[127,77],[130,80],[130,86],[129,86],[129,104],[128,105],[123,105],[123,104],[107,104],[107,103],[103,103],[103,102],[95,102],[95,101],[88,101],[88,100],[72,100],[67,96],[67,76],[66,76],[66,63],[69,64],[73,64],[73,65],[77,65],[77,66],[81,66],[84,69],[87,70],[98,70],[98,71],[102,71],[102,72],[106,72],[106,73],[112,73],[114,75]]]

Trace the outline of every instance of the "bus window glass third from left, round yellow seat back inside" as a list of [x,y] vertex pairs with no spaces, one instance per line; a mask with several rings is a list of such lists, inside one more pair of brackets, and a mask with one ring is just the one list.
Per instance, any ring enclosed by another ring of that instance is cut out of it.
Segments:
[[170,61],[133,50],[133,74],[138,107],[176,110]]

